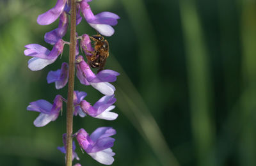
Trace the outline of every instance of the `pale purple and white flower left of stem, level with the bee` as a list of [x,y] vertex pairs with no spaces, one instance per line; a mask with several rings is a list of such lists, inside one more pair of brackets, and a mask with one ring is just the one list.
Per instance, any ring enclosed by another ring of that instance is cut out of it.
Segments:
[[42,70],[45,66],[54,63],[58,56],[63,52],[65,43],[60,39],[52,48],[48,50],[42,45],[29,44],[26,45],[24,50],[25,56],[31,56],[28,61],[28,68],[32,71]]

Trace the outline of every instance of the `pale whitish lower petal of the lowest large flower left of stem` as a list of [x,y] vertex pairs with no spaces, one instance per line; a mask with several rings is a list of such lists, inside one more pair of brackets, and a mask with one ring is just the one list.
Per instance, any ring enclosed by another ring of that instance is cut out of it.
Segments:
[[34,124],[36,127],[42,127],[46,124],[50,123],[51,121],[55,121],[57,119],[59,114],[39,114],[38,117],[36,117]]

